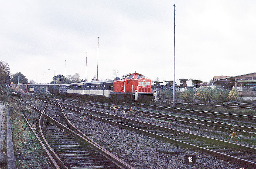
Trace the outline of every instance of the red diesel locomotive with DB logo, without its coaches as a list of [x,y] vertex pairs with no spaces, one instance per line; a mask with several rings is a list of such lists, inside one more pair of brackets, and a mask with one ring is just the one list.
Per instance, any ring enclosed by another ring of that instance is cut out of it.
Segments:
[[113,92],[110,93],[112,100],[148,104],[156,99],[156,92],[151,89],[151,80],[145,79],[144,75],[133,73],[122,76],[122,80],[114,81]]

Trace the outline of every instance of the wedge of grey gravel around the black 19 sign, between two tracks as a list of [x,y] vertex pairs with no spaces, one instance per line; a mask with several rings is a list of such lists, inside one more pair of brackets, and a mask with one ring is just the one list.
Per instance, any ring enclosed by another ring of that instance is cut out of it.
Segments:
[[[193,165],[192,168],[243,168],[237,164],[228,163],[204,153],[166,143],[159,139],[129,131],[87,116],[77,115],[77,113],[71,111],[64,111],[69,120],[79,130],[135,168],[188,168],[188,166],[184,164],[185,154],[196,154],[197,163]],[[180,149],[185,151],[185,153],[159,153],[158,149],[161,148]]]

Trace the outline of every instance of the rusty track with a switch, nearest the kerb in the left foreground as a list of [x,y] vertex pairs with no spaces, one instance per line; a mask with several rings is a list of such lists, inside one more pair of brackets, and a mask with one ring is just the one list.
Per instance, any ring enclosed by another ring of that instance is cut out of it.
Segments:
[[[23,101],[23,100],[22,100]],[[25,101],[24,101],[25,102]],[[28,104],[26,102],[26,104]],[[29,104],[30,105],[30,104]],[[32,105],[30,105],[32,106]],[[33,106],[32,106],[33,107]],[[96,168],[129,168],[134,169],[129,164],[120,160],[110,152],[99,146],[93,140],[85,136],[83,133],[78,134],[78,129],[71,130],[67,126],[72,126],[65,121],[60,114],[51,113],[55,118],[45,114],[44,111],[39,118],[40,137],[36,134],[40,142],[44,142],[43,147],[49,150],[50,160],[56,164],[55,168],[64,169],[96,169]],[[26,117],[24,116],[26,119]],[[56,120],[57,119],[57,120]],[[28,122],[28,120],[26,119]],[[63,125],[63,124],[66,125]],[[29,122],[28,122],[29,124]],[[31,126],[31,125],[30,125]],[[32,128],[32,127],[31,127]],[[72,127],[71,127],[72,128]],[[32,128],[33,129],[33,128]],[[48,151],[47,150],[47,151]]]

